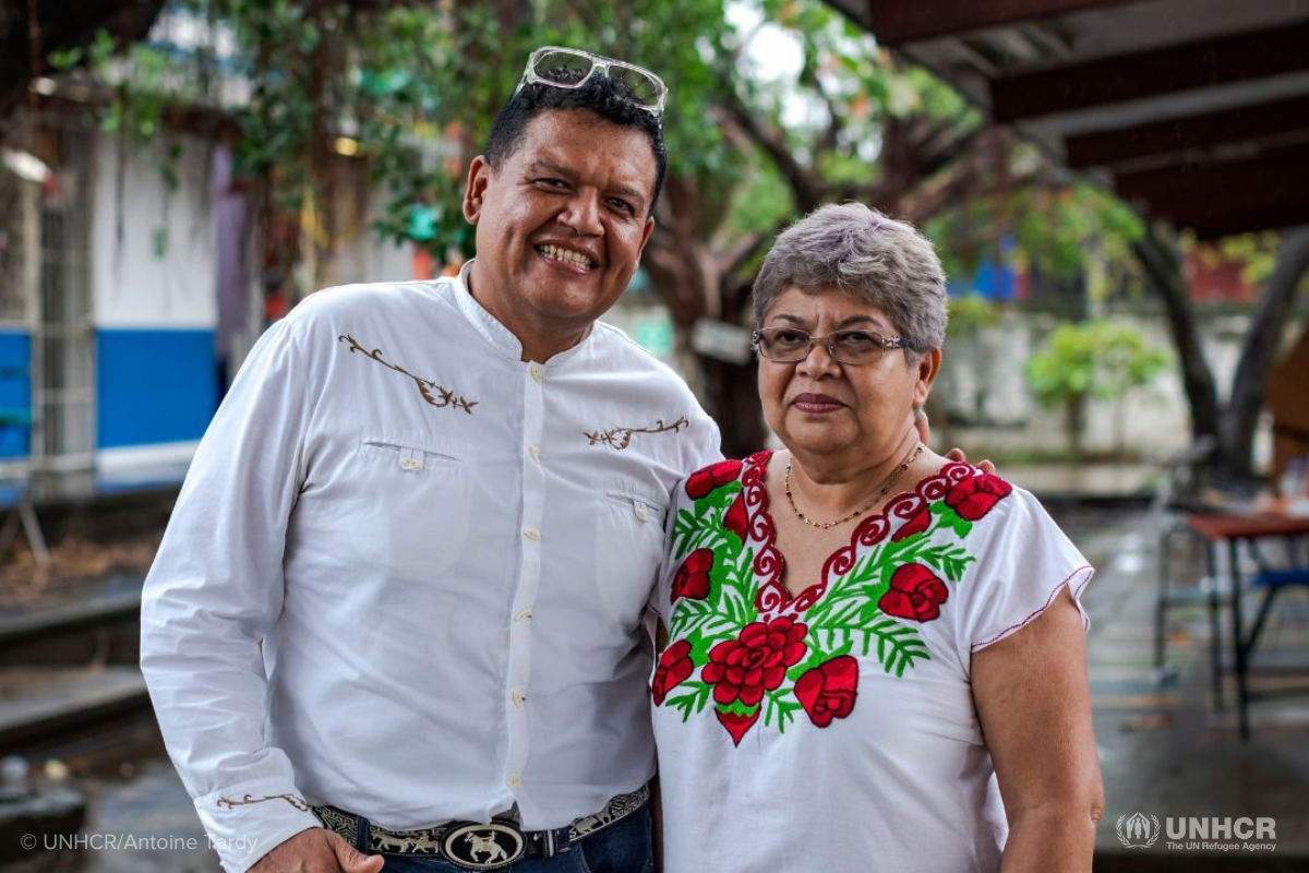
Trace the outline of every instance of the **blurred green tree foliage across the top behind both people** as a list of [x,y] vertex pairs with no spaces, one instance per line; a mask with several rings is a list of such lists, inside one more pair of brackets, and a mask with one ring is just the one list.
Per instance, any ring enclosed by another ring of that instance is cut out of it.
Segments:
[[[215,105],[240,128],[238,171],[267,179],[274,202],[288,209],[302,205],[344,137],[389,192],[377,230],[439,258],[471,251],[459,211],[463,165],[530,48],[545,43],[645,63],[666,79],[672,171],[695,179],[707,204],[721,204],[703,216],[700,230],[723,246],[767,238],[797,208],[816,205],[797,203],[776,151],[741,131],[725,135],[725,107],[740,106],[776,134],[823,199],[876,192],[886,173],[888,124],[919,124],[936,140],[980,126],[953,89],[895,63],[818,0],[742,0],[730,9],[724,0],[174,0],[169,14],[195,22],[200,34],[181,56],[147,43],[111,63],[113,39],[101,34],[86,51],[52,59],[60,68],[90,63],[118,84],[119,99],[102,119],[107,128],[151,139],[170,106]],[[798,68],[761,60],[764,39],[791,46]],[[250,84],[247,99],[225,101],[224,82],[241,79]],[[1047,188],[1016,188],[999,209],[997,202],[963,199],[928,224],[929,236],[954,262],[948,267],[975,263],[1007,229],[1026,257],[1058,275],[1076,270],[1088,251],[1103,251],[1106,263],[1126,260],[1113,245],[1088,245],[1097,233],[1131,237],[1124,207],[1086,186]],[[749,271],[757,260],[740,266]]]

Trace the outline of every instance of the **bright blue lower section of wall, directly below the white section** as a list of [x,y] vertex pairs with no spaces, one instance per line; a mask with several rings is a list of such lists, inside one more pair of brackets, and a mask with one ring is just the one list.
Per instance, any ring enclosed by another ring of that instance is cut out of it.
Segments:
[[96,331],[96,446],[199,440],[219,406],[212,330]]

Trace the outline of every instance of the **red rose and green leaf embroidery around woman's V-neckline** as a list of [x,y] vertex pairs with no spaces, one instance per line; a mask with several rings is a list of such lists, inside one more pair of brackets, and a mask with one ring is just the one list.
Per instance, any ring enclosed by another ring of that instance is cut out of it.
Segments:
[[[859,661],[876,653],[888,675],[931,660],[920,628],[949,609],[977,558],[974,522],[1012,491],[1003,479],[952,463],[867,517],[819,580],[792,596],[768,514],[771,452],[692,474],[670,550],[670,644],[651,682],[656,705],[687,721],[712,703],[741,745],[761,720],[784,732],[802,711],[816,728],[853,712]],[[740,478],[733,478],[738,474]],[[899,521],[894,535],[893,520]]]

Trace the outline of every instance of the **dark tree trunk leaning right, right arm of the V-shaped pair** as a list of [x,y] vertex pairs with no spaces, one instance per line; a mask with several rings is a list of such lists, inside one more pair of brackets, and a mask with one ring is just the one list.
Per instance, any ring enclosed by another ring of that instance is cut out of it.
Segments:
[[1223,454],[1236,474],[1251,474],[1254,431],[1259,424],[1268,374],[1276,363],[1282,332],[1306,270],[1309,226],[1284,232],[1278,245],[1276,267],[1250,315],[1250,329],[1245,334],[1241,363],[1232,383],[1232,401],[1220,433]]

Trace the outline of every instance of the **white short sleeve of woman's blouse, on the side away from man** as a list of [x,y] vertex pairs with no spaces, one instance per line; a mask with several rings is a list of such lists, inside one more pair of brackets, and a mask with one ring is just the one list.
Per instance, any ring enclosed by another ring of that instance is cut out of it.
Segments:
[[973,652],[1037,619],[1066,589],[1081,613],[1083,628],[1090,627],[1080,598],[1094,569],[1029,492],[1014,488],[1003,507],[978,522],[974,535],[988,535],[959,585],[956,620],[963,664]]

